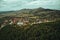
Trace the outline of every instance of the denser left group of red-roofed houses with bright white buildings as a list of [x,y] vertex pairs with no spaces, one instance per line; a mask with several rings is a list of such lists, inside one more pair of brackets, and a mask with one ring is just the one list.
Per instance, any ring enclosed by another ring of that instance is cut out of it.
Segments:
[[9,20],[4,20],[3,24],[17,24],[19,26],[21,25],[27,25],[29,24],[28,18],[25,17],[13,17]]

